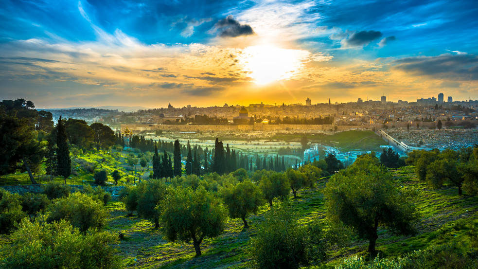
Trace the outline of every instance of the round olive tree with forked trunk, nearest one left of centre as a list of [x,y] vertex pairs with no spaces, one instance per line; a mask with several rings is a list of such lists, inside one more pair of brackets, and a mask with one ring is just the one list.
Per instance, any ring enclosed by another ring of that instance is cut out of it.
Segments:
[[190,242],[201,255],[200,244],[205,237],[216,237],[226,227],[227,210],[219,198],[204,188],[193,191],[178,187],[164,199],[157,210],[168,241]]

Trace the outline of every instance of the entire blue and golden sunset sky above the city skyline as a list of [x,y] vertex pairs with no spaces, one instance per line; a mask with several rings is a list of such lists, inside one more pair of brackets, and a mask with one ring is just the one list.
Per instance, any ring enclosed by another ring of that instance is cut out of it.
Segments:
[[3,0],[0,100],[478,99],[476,0]]

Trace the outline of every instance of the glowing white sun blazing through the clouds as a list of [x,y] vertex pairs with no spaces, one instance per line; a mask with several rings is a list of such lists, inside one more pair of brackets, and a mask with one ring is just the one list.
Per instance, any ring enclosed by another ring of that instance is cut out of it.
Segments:
[[256,84],[289,79],[302,67],[308,51],[282,49],[273,46],[251,46],[243,50],[239,62]]

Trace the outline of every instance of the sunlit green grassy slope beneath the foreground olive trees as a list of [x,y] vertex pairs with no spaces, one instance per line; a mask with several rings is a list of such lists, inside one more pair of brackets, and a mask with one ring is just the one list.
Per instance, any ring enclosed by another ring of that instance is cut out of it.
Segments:
[[[478,197],[459,197],[457,189],[445,186],[431,189],[425,182],[418,181],[412,166],[392,170],[400,188],[414,190],[413,198],[421,221],[417,236],[395,236],[380,229],[377,250],[380,257],[396,258],[414,250],[425,249],[431,244],[470,242],[477,240]],[[293,208],[299,213],[302,223],[314,218],[324,219],[324,198],[321,193],[327,179],[319,179],[314,188],[299,191],[300,197],[290,197]],[[126,268],[248,268],[245,250],[249,238],[254,236],[257,224],[268,210],[264,206],[257,215],[248,219],[250,228],[244,229],[240,219],[230,219],[226,232],[214,239],[205,239],[201,245],[203,255],[195,257],[191,243],[168,243],[159,230],[153,230],[151,221],[136,216],[126,216],[121,202],[107,206],[111,213],[107,230],[124,233],[119,245]],[[344,253],[334,251],[329,257],[328,268],[343,261],[344,257],[367,255],[365,241],[354,240]]]

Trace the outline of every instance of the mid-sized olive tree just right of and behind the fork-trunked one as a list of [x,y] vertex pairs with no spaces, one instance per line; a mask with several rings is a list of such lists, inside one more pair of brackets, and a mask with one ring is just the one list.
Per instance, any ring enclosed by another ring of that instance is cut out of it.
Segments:
[[250,180],[222,188],[220,196],[228,207],[230,217],[241,218],[245,227],[248,227],[248,215],[257,213],[259,207],[264,204],[261,189]]

